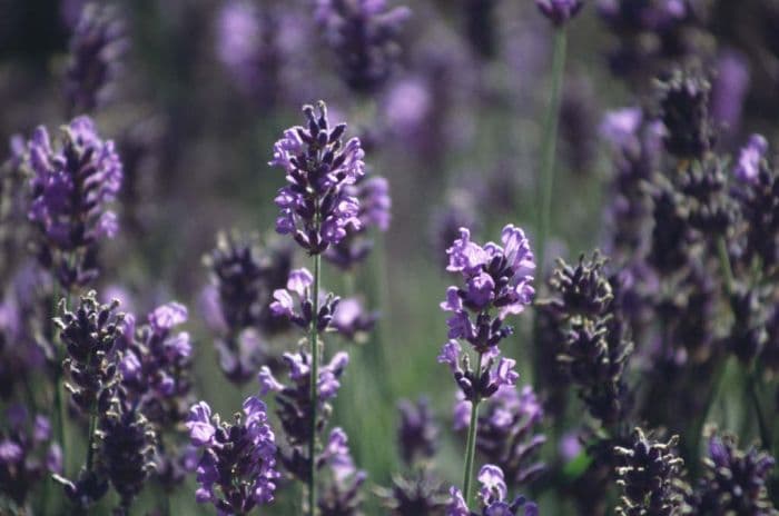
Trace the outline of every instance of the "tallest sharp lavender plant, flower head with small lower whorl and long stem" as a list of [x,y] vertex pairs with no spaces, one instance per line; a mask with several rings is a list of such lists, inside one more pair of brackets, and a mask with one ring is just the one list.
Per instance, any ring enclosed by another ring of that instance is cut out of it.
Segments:
[[[317,113],[318,111],[318,113]],[[306,269],[289,275],[287,289],[274,292],[270,309],[297,326],[308,330],[310,351],[309,410],[308,410],[308,510],[315,514],[317,506],[316,436],[319,419],[319,334],[333,320],[338,298],[328,294],[321,304],[319,280],[322,254],[338,245],[347,236],[348,228],[359,229],[359,200],[349,195],[348,187],[365,175],[364,152],[357,138],[343,143],[346,125],[329,127],[327,108],[319,102],[315,110],[305,106],[303,112],[307,127],[294,127],[285,131],[274,147],[270,165],[284,168],[288,185],[276,197],[280,216],[276,230],[292,235],[295,241],[313,257],[314,274]],[[292,294],[299,300],[296,308]]]

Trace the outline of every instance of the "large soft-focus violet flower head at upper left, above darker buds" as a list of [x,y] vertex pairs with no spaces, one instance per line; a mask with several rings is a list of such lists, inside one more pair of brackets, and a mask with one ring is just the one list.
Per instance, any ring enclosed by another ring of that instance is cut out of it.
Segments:
[[38,259],[70,289],[97,276],[96,244],[118,230],[107,209],[121,186],[122,168],[112,141],[101,140],[88,117],[62,128],[53,148],[45,127],[28,143],[32,201],[29,218],[38,228]]

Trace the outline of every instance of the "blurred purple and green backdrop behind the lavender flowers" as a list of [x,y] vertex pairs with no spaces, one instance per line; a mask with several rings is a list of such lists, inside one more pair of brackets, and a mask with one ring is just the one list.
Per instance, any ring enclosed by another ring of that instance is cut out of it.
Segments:
[[[327,340],[328,356],[352,354],[333,421],[348,433],[368,484],[387,485],[403,469],[396,404],[425,394],[442,426],[438,472],[456,482],[464,435],[451,430],[455,386],[436,364],[446,339],[438,302],[454,282],[445,249],[460,226],[486,241],[512,222],[534,242],[553,27],[531,0],[392,1],[387,9],[405,4],[411,16],[382,43],[388,63],[374,82],[359,85],[315,3],[112,2],[115,32],[102,54],[111,80],[98,102],[85,106],[68,87],[83,2],[0,0],[0,141],[89,112],[101,136],[117,142],[125,165],[121,230],[101,246],[98,291],[119,295],[141,314],[170,299],[185,304],[195,396],[226,415],[257,384],[237,386],[219,373],[204,318],[213,279],[204,257],[219,231],[256,234],[262,246],[277,245],[273,199],[284,177],[267,165],[273,143],[302,122],[302,105],[325,100],[331,119],[346,121],[347,133],[363,140],[365,162],[388,180],[393,202],[392,224],[373,236],[365,264],[347,275],[324,268],[326,288],[356,295],[381,314],[357,341]],[[588,1],[570,24],[550,264],[607,241],[613,166],[599,127],[617,108],[652,112],[654,78],[669,63],[696,61],[710,73],[721,148],[737,149],[751,132],[769,140],[776,132],[779,2],[679,0],[683,14],[657,8],[668,17],[662,21],[619,18],[619,3]],[[13,265],[0,267],[2,274],[31,259],[9,256]],[[294,264],[308,265],[299,252]],[[517,359],[523,385],[533,384],[530,358],[523,358],[530,357],[530,320],[517,318],[504,350]],[[297,338],[274,337],[272,354],[292,349]],[[188,482],[174,514],[209,514],[210,507],[195,504]],[[152,507],[149,492],[144,499]],[[381,514],[367,492],[366,513]],[[543,504],[545,514],[568,514],[554,500]],[[290,510],[282,499],[263,514]]]

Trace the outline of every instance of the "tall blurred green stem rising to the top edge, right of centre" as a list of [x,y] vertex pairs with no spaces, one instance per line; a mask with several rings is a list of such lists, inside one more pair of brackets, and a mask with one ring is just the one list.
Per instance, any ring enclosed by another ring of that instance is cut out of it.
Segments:
[[568,37],[565,28],[561,27],[554,33],[554,56],[552,58],[552,90],[549,100],[549,110],[544,121],[544,136],[542,142],[541,162],[541,207],[538,219],[538,235],[535,249],[538,254],[538,275],[544,277],[544,254],[546,238],[552,219],[552,192],[554,191],[554,158],[558,146],[558,125],[560,122],[560,100],[565,72],[565,50]]

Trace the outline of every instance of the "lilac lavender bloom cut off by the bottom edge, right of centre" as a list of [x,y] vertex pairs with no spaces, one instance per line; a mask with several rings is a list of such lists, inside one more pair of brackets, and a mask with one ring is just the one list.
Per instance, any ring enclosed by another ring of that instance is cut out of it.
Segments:
[[[509,489],[500,467],[493,464],[482,466],[479,470],[477,479],[481,484],[479,503],[482,506],[482,510],[471,510],[461,490],[452,487],[450,489],[451,498],[446,507],[446,516],[539,515],[538,506],[526,502],[524,496],[517,496],[513,500],[506,499]],[[522,509],[522,513],[519,512],[520,509]]]

